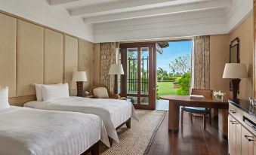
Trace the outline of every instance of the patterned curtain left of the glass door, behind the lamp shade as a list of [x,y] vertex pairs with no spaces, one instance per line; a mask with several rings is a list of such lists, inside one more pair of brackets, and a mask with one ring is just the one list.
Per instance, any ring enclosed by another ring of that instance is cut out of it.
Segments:
[[116,43],[100,43],[100,84],[109,87],[113,92],[115,78],[109,75],[109,68],[111,64],[116,63]]

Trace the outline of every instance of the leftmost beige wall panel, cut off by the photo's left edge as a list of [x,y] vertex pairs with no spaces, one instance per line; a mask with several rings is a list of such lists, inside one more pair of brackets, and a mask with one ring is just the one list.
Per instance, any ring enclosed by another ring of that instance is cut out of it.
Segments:
[[9,87],[16,96],[16,25],[17,20],[0,14],[0,86]]

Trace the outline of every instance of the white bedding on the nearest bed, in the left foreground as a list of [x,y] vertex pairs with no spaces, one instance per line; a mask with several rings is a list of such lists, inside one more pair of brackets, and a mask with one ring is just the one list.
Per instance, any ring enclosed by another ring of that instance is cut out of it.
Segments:
[[0,123],[0,154],[79,155],[99,140],[109,146],[93,114],[11,106],[0,111]]

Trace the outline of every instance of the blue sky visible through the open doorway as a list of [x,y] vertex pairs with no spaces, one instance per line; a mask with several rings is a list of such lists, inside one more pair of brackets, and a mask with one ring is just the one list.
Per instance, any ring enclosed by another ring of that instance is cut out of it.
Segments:
[[178,56],[191,55],[192,41],[169,42],[169,45],[163,49],[162,54],[157,53],[157,68],[163,68],[168,73],[171,71],[169,68],[170,61]]

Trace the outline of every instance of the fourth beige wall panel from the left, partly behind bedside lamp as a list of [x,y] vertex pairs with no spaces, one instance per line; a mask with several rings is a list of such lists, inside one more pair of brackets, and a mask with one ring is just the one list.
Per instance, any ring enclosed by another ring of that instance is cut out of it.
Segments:
[[76,82],[72,82],[72,72],[78,71],[79,40],[65,35],[63,82],[69,83],[69,95],[76,96]]

